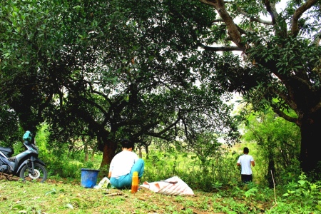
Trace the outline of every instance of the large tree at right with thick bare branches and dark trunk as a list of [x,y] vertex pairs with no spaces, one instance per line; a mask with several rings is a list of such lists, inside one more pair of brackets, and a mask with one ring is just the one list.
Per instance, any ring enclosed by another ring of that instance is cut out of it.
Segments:
[[[213,20],[213,34],[225,32],[215,46],[200,44],[212,58],[208,68],[216,80],[228,91],[243,93],[255,110],[272,106],[300,126],[302,170],[315,170],[321,161],[316,149],[321,127],[320,1],[287,1],[282,10],[274,0],[200,1],[220,17]],[[225,54],[218,58],[216,51]],[[243,60],[227,51],[241,51]],[[286,113],[289,108],[296,117]]]

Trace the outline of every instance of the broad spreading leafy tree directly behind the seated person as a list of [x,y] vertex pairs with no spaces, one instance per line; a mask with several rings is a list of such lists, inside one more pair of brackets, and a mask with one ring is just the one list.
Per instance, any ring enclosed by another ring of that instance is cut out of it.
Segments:
[[[0,65],[11,91],[1,98],[32,118],[19,118],[29,127],[49,123],[60,143],[96,137],[101,166],[123,137],[174,141],[225,132],[223,88],[195,72],[201,59],[195,39],[210,30],[213,14],[197,1],[175,4],[8,1],[1,7]],[[193,12],[173,11],[188,5]]]

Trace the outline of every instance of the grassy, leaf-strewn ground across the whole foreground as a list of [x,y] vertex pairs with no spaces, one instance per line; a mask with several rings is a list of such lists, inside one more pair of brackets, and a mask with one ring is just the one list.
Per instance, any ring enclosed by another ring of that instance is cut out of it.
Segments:
[[[312,186],[315,186],[312,184]],[[307,188],[304,188],[307,190]],[[321,213],[320,186],[307,197],[296,188],[292,198],[282,196],[284,187],[265,188],[255,183],[193,190],[195,195],[161,195],[141,189],[83,188],[80,180],[57,178],[45,183],[21,182],[0,175],[0,214],[39,213]],[[292,192],[292,191],[290,191]],[[289,192],[289,193],[290,193]]]

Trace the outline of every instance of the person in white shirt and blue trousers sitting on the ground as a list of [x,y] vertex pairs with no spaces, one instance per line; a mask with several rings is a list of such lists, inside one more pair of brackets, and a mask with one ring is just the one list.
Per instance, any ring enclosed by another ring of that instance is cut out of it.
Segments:
[[121,141],[122,150],[111,160],[108,178],[111,185],[118,189],[131,188],[133,172],[138,172],[138,179],[144,173],[144,161],[133,152],[134,143],[124,139]]

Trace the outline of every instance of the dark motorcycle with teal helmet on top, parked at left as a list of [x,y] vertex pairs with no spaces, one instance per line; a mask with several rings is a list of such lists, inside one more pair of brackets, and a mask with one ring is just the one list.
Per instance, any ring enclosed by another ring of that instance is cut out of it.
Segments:
[[[32,134],[26,131],[23,136],[26,151],[16,156],[14,150],[0,146],[0,175],[3,174],[9,180],[9,175],[20,177],[23,181],[38,181],[43,183],[47,179],[46,164],[41,161],[39,148],[31,143]],[[11,157],[12,156],[12,157]]]

